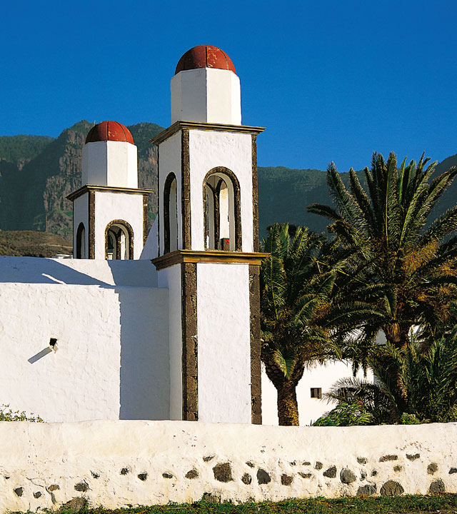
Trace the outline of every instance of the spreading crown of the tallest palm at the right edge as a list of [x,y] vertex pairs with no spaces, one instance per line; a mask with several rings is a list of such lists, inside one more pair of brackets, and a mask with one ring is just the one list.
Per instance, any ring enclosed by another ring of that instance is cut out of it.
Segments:
[[394,153],[387,162],[373,153],[371,169],[364,170],[367,190],[352,168],[346,187],[331,163],[327,183],[336,207],[308,206],[309,212],[329,218],[328,230],[353,251],[347,275],[337,284],[340,293],[356,295],[380,314],[359,333],[362,346],[353,358],[366,361],[380,330],[402,350],[413,326],[437,336],[448,321],[457,291],[457,206],[432,222],[430,218],[457,168],[432,179],[436,162],[428,161],[422,156],[417,165],[406,165],[405,159],[397,168]]

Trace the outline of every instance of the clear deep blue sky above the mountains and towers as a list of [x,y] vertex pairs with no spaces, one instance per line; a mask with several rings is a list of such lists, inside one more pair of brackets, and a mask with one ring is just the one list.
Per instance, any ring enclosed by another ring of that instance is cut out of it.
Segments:
[[169,80],[226,51],[261,166],[363,168],[457,153],[457,1],[2,2],[0,135],[76,121],[168,126]]

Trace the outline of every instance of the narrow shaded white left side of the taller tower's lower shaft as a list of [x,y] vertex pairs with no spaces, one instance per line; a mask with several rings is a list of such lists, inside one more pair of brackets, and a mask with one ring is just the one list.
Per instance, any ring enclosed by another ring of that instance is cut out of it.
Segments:
[[168,288],[169,357],[170,357],[170,419],[183,417],[181,265],[165,268],[159,273],[159,287]]

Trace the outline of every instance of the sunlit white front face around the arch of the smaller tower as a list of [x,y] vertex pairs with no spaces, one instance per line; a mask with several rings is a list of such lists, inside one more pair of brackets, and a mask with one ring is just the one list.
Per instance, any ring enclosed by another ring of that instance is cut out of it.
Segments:
[[95,258],[105,258],[105,228],[115,219],[131,225],[134,231],[134,259],[139,259],[143,250],[143,196],[107,191],[95,192]]

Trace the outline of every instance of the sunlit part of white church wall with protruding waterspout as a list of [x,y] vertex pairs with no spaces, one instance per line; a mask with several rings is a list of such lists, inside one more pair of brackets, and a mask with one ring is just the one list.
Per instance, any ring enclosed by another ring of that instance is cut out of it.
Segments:
[[[114,289],[2,283],[0,403],[47,421],[119,418],[121,326]],[[57,350],[49,338],[57,338]]]

